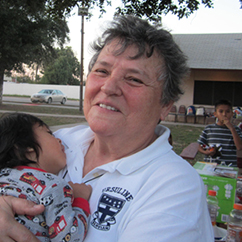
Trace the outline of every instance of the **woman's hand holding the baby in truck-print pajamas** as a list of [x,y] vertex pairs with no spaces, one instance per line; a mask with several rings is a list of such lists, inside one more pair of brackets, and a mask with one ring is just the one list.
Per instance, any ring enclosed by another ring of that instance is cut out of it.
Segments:
[[44,211],[43,205],[36,205],[26,199],[0,196],[0,242],[37,242],[36,237],[14,215],[37,215]]

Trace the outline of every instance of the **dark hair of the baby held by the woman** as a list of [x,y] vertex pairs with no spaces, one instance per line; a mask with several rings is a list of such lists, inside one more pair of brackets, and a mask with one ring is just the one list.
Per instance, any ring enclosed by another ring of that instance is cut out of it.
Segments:
[[4,114],[0,117],[0,169],[35,163],[26,157],[34,149],[37,160],[41,149],[34,135],[33,126],[46,126],[41,119],[24,113]]

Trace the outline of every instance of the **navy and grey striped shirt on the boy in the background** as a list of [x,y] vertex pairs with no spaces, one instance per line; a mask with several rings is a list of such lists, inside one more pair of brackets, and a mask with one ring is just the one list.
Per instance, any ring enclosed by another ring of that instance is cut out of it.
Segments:
[[[241,129],[235,126],[235,130],[242,139]],[[237,156],[236,156],[236,146],[234,144],[234,139],[231,131],[226,126],[219,126],[217,124],[208,125],[200,135],[197,142],[200,145],[208,146],[221,146],[221,155],[217,156],[215,154],[213,157],[205,155],[204,161],[207,162],[217,162],[220,164],[222,161],[232,166],[237,166]]]

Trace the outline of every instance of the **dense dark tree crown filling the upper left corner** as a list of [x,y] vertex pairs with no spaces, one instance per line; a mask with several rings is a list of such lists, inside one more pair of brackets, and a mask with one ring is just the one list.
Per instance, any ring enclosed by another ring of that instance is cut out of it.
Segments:
[[64,16],[49,11],[48,0],[0,1],[0,105],[5,71],[21,70],[22,63],[39,63],[62,45],[69,29]]

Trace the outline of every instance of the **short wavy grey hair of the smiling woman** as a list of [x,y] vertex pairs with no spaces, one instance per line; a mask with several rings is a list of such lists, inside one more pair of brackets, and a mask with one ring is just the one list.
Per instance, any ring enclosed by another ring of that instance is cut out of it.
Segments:
[[130,15],[115,17],[110,27],[92,44],[95,54],[89,63],[89,72],[104,46],[114,39],[119,39],[121,44],[117,55],[123,53],[132,44],[138,47],[138,53],[132,57],[133,59],[144,54],[149,58],[154,51],[158,53],[162,58],[162,63],[165,64],[165,66],[161,65],[160,72],[162,74],[158,78],[158,81],[163,80],[161,103],[168,104],[179,99],[180,95],[183,94],[181,86],[189,73],[189,68],[187,57],[168,31],[159,25],[151,25],[148,21],[138,17]]

